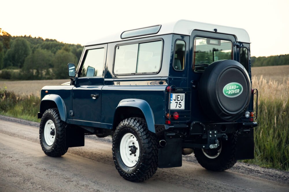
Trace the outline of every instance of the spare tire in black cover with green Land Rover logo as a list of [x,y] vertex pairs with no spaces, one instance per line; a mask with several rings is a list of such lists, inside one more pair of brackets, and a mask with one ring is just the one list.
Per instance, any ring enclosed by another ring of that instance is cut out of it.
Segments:
[[249,106],[249,75],[237,61],[215,61],[203,72],[198,95],[204,113],[211,120],[236,121]]

